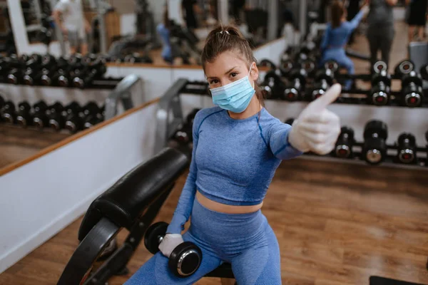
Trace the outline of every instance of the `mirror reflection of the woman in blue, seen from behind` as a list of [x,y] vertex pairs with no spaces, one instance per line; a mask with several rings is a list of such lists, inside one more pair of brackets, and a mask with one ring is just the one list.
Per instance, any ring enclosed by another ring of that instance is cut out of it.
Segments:
[[[334,1],[331,6],[332,22],[327,24],[324,37],[321,42],[322,60],[335,60],[340,66],[347,69],[347,73],[354,74],[354,63],[346,56],[345,46],[352,33],[365,14],[367,14],[367,4],[364,4],[352,21],[346,21],[347,12],[342,1]],[[345,89],[350,89],[352,80],[346,81]]]

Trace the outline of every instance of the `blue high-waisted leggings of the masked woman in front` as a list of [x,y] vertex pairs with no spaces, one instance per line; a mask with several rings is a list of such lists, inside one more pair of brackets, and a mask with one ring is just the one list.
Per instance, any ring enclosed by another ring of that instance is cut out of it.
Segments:
[[232,264],[239,285],[281,284],[280,249],[275,233],[261,210],[249,214],[225,214],[193,202],[190,228],[184,241],[203,253],[199,269],[188,278],[174,276],[168,258],[155,254],[125,285],[194,284],[223,262]]

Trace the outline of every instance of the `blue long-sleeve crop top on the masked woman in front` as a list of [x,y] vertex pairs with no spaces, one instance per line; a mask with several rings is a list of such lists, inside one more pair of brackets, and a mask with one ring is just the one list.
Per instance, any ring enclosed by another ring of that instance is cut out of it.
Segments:
[[219,107],[200,110],[193,121],[190,171],[167,232],[183,231],[196,190],[223,204],[260,204],[281,160],[302,154],[288,142],[290,129],[265,108],[243,120]]

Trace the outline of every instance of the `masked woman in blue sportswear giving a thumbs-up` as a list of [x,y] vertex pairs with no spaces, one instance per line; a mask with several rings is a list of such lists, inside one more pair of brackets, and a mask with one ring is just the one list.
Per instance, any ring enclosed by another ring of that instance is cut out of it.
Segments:
[[[260,208],[281,160],[333,149],[340,122],[326,107],[340,94],[340,85],[310,103],[290,126],[263,107],[253,51],[238,29],[211,31],[202,62],[218,106],[195,116],[190,173],[161,252],[126,285],[194,284],[225,261],[238,284],[281,284],[280,249]],[[182,236],[190,214],[190,229]],[[199,269],[185,279],[168,269],[170,253],[183,241],[203,252]]]

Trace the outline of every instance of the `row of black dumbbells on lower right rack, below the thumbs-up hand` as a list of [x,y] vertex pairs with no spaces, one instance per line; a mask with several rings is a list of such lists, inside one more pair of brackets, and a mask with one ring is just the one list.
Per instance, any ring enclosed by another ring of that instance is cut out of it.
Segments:
[[[285,120],[285,123],[292,125],[294,119]],[[428,142],[428,132],[425,134]],[[392,162],[407,165],[416,165],[418,162],[417,152],[421,148],[417,147],[416,138],[411,133],[402,133],[397,138],[394,145],[387,145],[388,128],[387,124],[380,120],[371,120],[365,125],[364,142],[355,140],[354,130],[343,126],[339,138],[335,144],[335,150],[331,155],[335,157],[352,159],[359,157],[370,165],[379,165],[387,158],[387,150],[397,150],[397,154],[392,157]],[[361,147],[361,152],[354,151],[354,147]],[[424,149],[428,155],[428,146]]]

